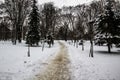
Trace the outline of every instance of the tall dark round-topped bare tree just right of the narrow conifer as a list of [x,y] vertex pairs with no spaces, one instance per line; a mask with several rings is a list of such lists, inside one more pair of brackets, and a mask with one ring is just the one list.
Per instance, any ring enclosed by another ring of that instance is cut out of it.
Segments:
[[44,28],[42,28],[43,30],[43,36],[44,38],[46,38],[46,35],[48,34],[48,32],[52,32],[54,34],[54,27],[55,27],[55,15],[56,15],[56,10],[55,7],[53,5],[53,3],[45,3],[44,4],[44,9],[42,10],[42,17],[44,17]]

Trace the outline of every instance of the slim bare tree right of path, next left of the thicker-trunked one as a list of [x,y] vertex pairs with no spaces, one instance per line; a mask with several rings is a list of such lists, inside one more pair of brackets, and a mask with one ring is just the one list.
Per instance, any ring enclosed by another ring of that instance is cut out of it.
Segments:
[[76,11],[77,11],[77,23],[76,23],[76,30],[79,31],[79,38],[81,39],[81,44],[82,44],[82,50],[84,50],[84,35],[86,34],[86,20],[87,20],[87,15],[86,15],[86,6],[83,5],[78,5],[76,6]]

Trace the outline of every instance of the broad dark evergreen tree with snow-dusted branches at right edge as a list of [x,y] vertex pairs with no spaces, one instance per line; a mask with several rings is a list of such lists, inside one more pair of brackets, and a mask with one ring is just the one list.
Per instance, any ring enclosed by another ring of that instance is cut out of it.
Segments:
[[106,0],[105,13],[98,19],[98,31],[106,36],[109,53],[111,52],[111,38],[120,34],[119,19],[115,15],[113,4],[114,0]]

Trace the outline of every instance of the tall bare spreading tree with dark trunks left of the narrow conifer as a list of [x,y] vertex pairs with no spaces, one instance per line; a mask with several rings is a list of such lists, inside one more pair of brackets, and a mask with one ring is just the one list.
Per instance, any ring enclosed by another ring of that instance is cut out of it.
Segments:
[[24,20],[30,10],[31,0],[5,0],[6,12],[12,23],[12,42],[22,40]]

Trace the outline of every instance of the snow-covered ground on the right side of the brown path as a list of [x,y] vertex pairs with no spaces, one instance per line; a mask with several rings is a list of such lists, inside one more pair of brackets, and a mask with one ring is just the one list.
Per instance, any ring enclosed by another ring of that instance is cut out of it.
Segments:
[[90,43],[85,50],[66,44],[71,59],[72,80],[120,80],[120,48],[107,53],[106,46],[94,46],[94,58],[89,58]]

